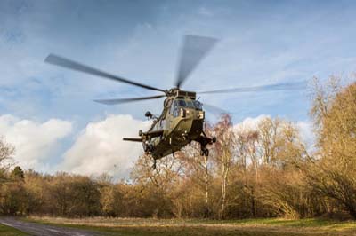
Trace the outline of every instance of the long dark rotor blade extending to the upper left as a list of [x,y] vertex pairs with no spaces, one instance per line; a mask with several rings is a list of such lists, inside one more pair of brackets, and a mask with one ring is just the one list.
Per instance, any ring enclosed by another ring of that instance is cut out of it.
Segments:
[[84,73],[87,73],[87,74],[101,76],[101,77],[104,77],[104,78],[107,78],[107,79],[111,79],[111,80],[114,80],[114,81],[118,81],[118,82],[122,82],[122,83],[129,83],[129,84],[132,84],[134,86],[142,87],[142,88],[147,89],[147,90],[158,90],[158,91],[166,92],[165,90],[161,90],[161,89],[152,87],[150,85],[146,85],[146,84],[130,81],[130,80],[127,80],[127,79],[125,79],[123,77],[119,77],[117,75],[111,75],[109,73],[100,71],[100,70],[95,69],[93,67],[88,67],[88,66],[85,66],[84,64],[80,64],[80,63],[78,63],[78,62],[76,62],[74,60],[65,59],[65,58],[62,58],[61,56],[57,56],[57,55],[54,55],[54,54],[48,55],[48,57],[46,59],[44,59],[44,61],[47,62],[47,63],[53,64],[53,65],[59,66],[59,67],[66,67],[66,68],[77,70],[77,71],[84,72]]

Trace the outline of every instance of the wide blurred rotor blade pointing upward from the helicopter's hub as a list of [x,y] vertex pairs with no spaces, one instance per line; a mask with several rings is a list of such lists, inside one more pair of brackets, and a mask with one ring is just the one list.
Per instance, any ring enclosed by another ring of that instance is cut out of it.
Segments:
[[182,46],[181,60],[178,66],[175,86],[180,88],[198,63],[210,51],[216,39],[211,37],[186,35]]

